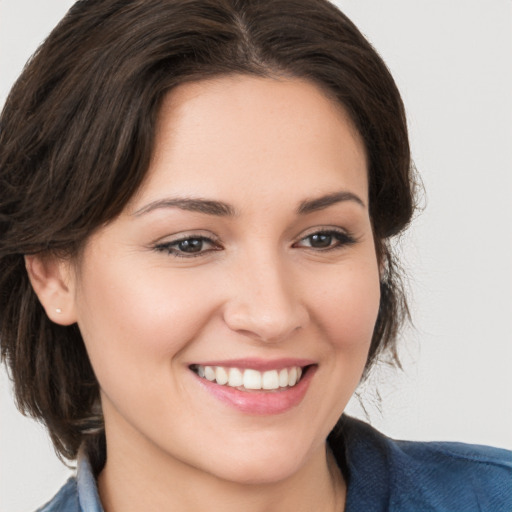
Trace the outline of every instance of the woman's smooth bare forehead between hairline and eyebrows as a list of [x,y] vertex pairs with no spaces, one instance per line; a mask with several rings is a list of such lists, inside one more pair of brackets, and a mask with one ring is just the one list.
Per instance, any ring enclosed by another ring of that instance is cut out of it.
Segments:
[[276,187],[303,195],[351,188],[366,201],[364,144],[339,103],[304,80],[245,75],[168,93],[136,203],[165,190],[185,196],[236,190],[246,199],[258,190],[270,199]]

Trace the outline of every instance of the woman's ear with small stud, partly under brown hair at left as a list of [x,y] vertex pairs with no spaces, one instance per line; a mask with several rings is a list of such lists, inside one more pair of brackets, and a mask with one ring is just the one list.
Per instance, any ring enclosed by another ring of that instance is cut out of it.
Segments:
[[49,254],[25,256],[28,277],[48,318],[60,325],[77,321],[71,262]]

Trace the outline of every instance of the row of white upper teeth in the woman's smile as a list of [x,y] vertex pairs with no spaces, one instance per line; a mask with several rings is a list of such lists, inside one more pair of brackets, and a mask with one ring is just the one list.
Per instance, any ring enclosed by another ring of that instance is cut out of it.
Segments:
[[217,382],[221,386],[228,385],[232,388],[275,390],[295,386],[302,376],[300,366],[292,366],[281,370],[267,370],[260,372],[247,368],[226,368],[223,366],[195,366],[195,372],[199,377],[211,382]]

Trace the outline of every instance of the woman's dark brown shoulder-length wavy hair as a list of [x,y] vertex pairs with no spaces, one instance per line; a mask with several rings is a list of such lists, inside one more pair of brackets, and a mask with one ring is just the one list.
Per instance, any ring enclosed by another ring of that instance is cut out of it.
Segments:
[[386,268],[366,372],[382,354],[398,361],[407,309],[388,243],[414,209],[407,126],[390,73],[350,20],[325,0],[81,0],[0,118],[1,353],[20,410],[46,424],[63,457],[104,440],[98,383],[77,326],[48,319],[23,256],[76,256],[140,186],[166,92],[229,73],[307,79],[349,113]]

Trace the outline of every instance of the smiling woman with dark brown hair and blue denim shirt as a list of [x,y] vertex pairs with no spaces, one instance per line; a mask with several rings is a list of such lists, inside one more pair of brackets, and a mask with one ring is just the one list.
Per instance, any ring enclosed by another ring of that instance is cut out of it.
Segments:
[[414,182],[333,6],[79,2],[0,145],[2,353],[78,457],[44,510],[510,508],[507,452],[339,419],[395,355]]

